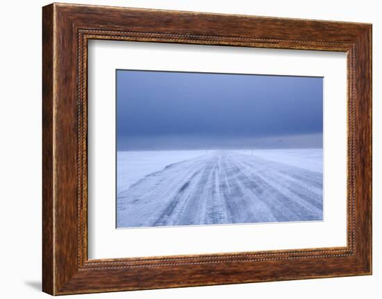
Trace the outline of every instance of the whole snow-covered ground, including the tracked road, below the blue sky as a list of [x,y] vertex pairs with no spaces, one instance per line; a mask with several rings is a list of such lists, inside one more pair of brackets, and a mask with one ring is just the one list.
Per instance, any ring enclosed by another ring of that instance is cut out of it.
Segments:
[[322,220],[322,149],[117,153],[117,227]]

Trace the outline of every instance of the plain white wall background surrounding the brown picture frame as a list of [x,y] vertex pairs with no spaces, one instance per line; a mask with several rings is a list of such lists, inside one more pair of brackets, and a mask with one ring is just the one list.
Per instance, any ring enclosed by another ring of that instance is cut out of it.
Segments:
[[[382,293],[382,9],[379,1],[70,1],[373,24],[374,275],[291,282],[104,293],[72,298],[380,298]],[[0,10],[0,296],[41,293],[41,7],[49,1],[3,1]]]

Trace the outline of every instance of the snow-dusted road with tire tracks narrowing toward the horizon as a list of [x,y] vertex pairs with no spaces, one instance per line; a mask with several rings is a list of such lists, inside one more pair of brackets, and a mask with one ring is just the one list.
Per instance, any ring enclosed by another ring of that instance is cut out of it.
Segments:
[[313,220],[322,173],[230,151],[171,164],[117,198],[119,228]]

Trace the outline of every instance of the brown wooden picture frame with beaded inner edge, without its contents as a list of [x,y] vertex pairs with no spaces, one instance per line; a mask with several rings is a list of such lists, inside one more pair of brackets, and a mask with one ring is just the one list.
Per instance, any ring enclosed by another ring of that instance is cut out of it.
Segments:
[[[372,273],[372,25],[53,3],[42,10],[42,289],[52,295]],[[90,39],[347,53],[347,246],[88,259]]]

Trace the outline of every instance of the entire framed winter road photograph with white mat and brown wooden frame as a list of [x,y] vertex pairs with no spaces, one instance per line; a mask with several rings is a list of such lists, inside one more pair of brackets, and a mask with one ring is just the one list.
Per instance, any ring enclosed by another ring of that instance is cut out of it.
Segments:
[[43,8],[43,291],[372,273],[372,25]]

